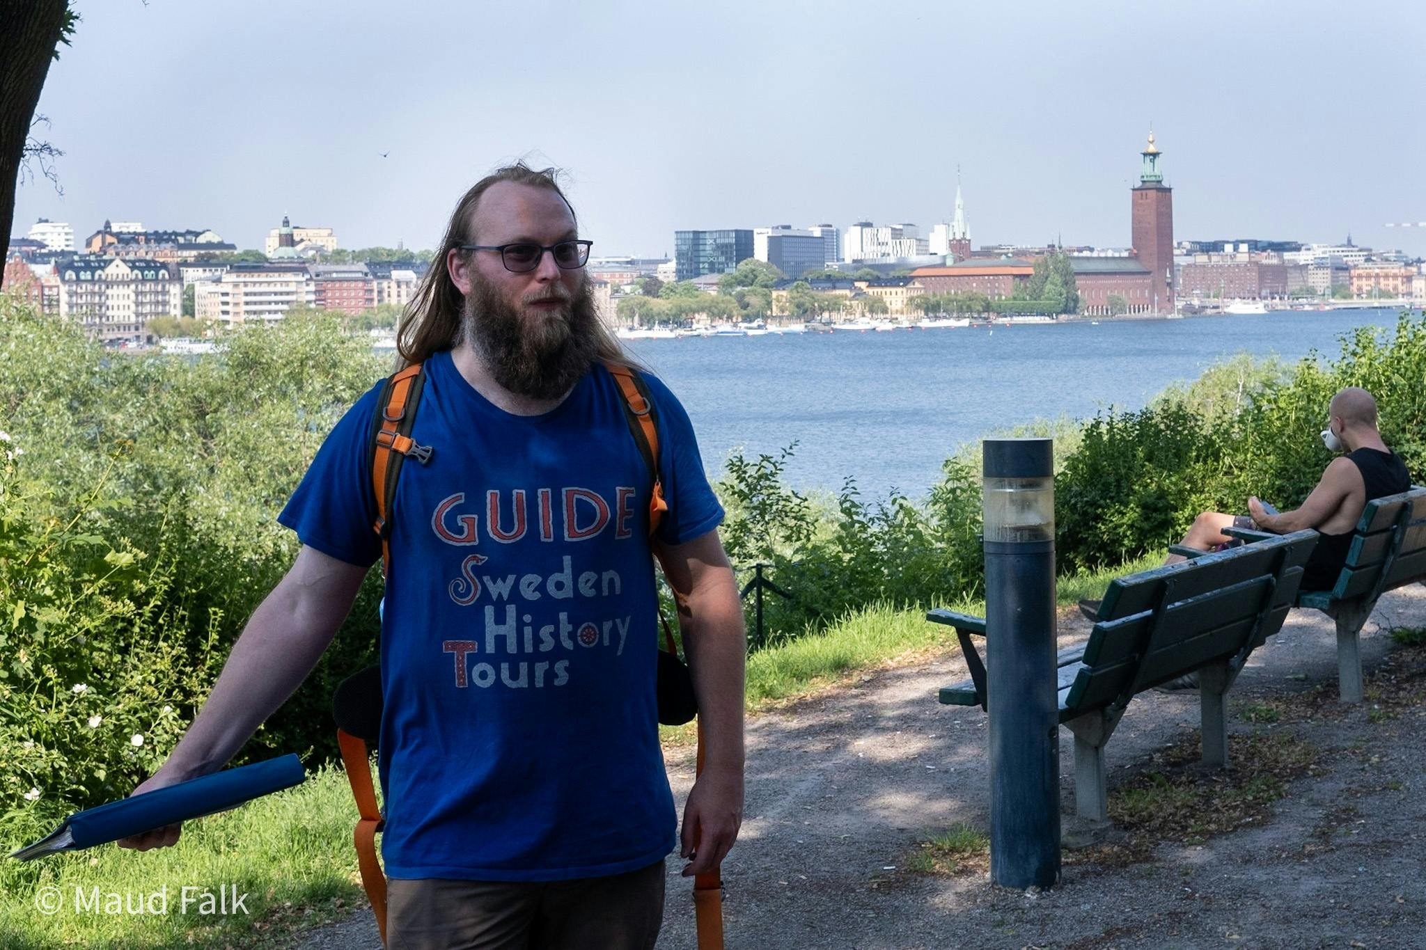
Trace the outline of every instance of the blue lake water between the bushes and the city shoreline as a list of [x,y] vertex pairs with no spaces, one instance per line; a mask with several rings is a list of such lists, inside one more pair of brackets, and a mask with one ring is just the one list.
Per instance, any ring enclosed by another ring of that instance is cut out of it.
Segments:
[[881,499],[893,487],[924,496],[941,461],[984,434],[1108,406],[1141,409],[1241,352],[1335,356],[1343,333],[1396,320],[1395,309],[1285,310],[626,345],[683,402],[710,477],[736,447],[776,453],[796,440],[789,483],[837,489],[853,476],[863,497]]

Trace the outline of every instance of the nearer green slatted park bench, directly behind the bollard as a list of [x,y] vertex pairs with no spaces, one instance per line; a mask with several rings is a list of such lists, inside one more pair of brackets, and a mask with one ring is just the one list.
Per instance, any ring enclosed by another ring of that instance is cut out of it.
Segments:
[[[1089,640],[1055,661],[1060,722],[1074,734],[1078,815],[1108,819],[1104,746],[1129,701],[1186,672],[1199,674],[1204,762],[1226,765],[1228,688],[1282,627],[1316,541],[1316,531],[1271,536],[1109,583]],[[940,691],[941,702],[985,709],[985,665],[971,641],[985,635],[984,618],[933,610],[927,620],[955,628],[971,671]]]

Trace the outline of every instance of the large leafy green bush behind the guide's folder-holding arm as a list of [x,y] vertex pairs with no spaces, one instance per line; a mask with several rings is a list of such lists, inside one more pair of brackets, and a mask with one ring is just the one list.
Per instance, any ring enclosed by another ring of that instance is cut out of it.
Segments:
[[[0,790],[24,803],[10,820],[127,793],[164,761],[295,555],[278,510],[386,372],[324,316],[222,342],[198,360],[111,355],[0,298]],[[375,574],[235,763],[334,751],[332,688],[375,655]]]

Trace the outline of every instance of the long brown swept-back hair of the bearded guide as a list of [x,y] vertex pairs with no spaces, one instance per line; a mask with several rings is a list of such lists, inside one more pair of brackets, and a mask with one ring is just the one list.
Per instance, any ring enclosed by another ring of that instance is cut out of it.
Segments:
[[[569,214],[575,218],[578,226],[579,218],[575,215],[575,207],[569,204],[569,198],[565,197],[563,189],[559,187],[559,175],[560,171],[558,168],[535,169],[523,161],[518,161],[513,165],[496,168],[471,185],[471,189],[461,197],[455,211],[451,214],[451,222],[446,225],[446,235],[441,242],[441,249],[436,251],[425,276],[421,278],[416,295],[411,298],[406,309],[401,313],[401,325],[396,329],[398,369],[425,362],[432,353],[451,349],[461,339],[465,295],[461,293],[461,288],[451,279],[446,259],[451,256],[451,251],[459,248],[462,244],[473,244],[475,235],[471,234],[471,221],[475,218],[475,208],[481,202],[481,195],[491,185],[501,181],[513,181],[533,188],[549,188],[569,207]],[[619,345],[619,338],[609,330],[603,319],[599,320],[596,333],[599,338],[597,360],[619,363],[622,366],[637,365],[625,353],[623,346]]]

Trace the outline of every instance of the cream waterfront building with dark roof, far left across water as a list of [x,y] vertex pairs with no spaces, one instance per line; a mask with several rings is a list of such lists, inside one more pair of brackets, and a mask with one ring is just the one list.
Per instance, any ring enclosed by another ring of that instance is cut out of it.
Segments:
[[163,261],[77,255],[56,265],[60,316],[100,340],[141,340],[148,320],[183,315],[178,268]]

